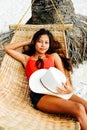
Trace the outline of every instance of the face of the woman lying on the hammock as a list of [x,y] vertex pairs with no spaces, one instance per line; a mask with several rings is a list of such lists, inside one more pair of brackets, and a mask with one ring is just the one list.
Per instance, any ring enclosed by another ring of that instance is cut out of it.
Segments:
[[50,41],[48,35],[41,35],[40,38],[36,41],[35,49],[38,54],[45,54],[49,49]]

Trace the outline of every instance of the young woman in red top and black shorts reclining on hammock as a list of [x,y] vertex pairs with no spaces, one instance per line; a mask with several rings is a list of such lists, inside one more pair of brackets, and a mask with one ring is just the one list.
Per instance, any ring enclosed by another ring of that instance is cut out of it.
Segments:
[[[28,49],[24,49],[24,53],[19,53],[16,50],[19,47],[25,48],[26,45],[28,45]],[[40,29],[34,34],[31,42],[9,44],[4,46],[4,49],[10,56],[23,64],[29,79],[33,72],[41,68],[48,69],[54,66],[64,74],[64,67],[69,71],[72,70],[68,62],[69,59],[59,56],[60,47],[60,43],[54,40],[53,35],[48,30]],[[63,84],[65,89],[58,89],[59,94],[68,94],[73,91],[68,77],[66,78],[67,81]],[[87,129],[87,102],[80,97],[73,94],[68,100],[65,100],[31,91],[30,98],[35,109],[49,113],[71,114],[80,122],[82,130]]]

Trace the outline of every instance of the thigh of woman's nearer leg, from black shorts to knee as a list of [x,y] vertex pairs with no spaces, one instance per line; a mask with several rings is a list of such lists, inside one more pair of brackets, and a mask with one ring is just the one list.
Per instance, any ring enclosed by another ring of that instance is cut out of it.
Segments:
[[49,113],[67,113],[76,115],[79,105],[80,103],[71,100],[45,95],[37,103],[37,108]]

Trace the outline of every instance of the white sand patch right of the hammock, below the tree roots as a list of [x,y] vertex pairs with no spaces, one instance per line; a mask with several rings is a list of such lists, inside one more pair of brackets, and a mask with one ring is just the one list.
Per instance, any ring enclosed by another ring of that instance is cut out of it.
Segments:
[[74,68],[72,74],[73,87],[78,95],[87,99],[87,61],[80,64],[78,68]]

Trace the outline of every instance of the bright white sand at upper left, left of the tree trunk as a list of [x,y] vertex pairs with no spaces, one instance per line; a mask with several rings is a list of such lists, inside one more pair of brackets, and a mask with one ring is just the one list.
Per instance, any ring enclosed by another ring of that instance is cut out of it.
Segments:
[[[17,24],[30,7],[31,0],[0,0],[0,33],[9,30],[9,25]],[[23,18],[25,24],[31,17],[31,8]]]

